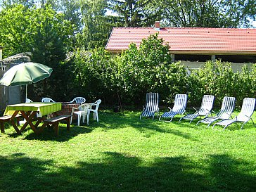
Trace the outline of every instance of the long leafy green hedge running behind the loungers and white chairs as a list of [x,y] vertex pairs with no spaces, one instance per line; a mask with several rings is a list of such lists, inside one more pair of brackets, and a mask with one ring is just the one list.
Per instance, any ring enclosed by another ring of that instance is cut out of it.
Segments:
[[174,101],[175,94],[188,94],[188,106],[200,106],[204,94],[215,96],[215,106],[224,96],[255,97],[256,64],[249,70],[233,73],[231,63],[207,61],[203,68],[186,73],[181,63],[172,63],[169,46],[153,34],[143,39],[139,49],[131,44],[127,51],[113,55],[104,49],[94,49],[85,56],[77,50],[75,56],[74,95],[88,101],[103,99],[106,105],[143,105],[149,91],[160,94],[160,105]]

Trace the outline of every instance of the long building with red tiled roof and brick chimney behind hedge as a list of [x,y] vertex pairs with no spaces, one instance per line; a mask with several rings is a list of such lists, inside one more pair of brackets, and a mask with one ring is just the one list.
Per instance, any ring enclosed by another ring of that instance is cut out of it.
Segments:
[[105,46],[121,53],[132,42],[139,48],[142,39],[158,33],[169,44],[172,61],[181,60],[188,68],[200,68],[207,60],[231,62],[238,70],[244,63],[256,63],[256,29],[201,27],[114,27]]

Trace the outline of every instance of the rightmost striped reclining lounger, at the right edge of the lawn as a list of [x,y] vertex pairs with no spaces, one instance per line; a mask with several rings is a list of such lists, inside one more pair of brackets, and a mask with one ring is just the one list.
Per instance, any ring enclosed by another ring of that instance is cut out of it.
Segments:
[[220,122],[215,123],[212,129],[215,127],[215,125],[219,124],[224,126],[223,128],[224,130],[226,129],[226,127],[229,126],[229,124],[232,124],[233,122],[243,122],[241,126],[241,129],[243,129],[243,125],[245,125],[245,123],[248,122],[249,120],[252,120],[252,114],[255,109],[255,101],[256,101],[255,98],[244,98],[241,112],[236,117],[234,117],[232,120],[229,120],[229,119],[221,120]]

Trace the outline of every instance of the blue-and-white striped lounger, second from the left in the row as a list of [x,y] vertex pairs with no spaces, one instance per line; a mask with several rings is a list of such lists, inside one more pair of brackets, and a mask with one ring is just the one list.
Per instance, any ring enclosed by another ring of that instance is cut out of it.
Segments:
[[188,96],[186,94],[176,94],[175,99],[174,99],[174,106],[173,108],[169,108],[169,112],[165,112],[159,117],[159,120],[164,117],[164,118],[171,118],[169,120],[170,122],[172,121],[172,118],[177,115],[181,114],[183,115],[186,112],[186,102],[188,100]]

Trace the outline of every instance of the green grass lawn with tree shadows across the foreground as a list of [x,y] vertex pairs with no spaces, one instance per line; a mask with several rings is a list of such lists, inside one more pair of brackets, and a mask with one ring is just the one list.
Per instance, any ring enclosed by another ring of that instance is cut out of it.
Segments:
[[[253,119],[256,122],[256,115]],[[256,127],[139,120],[100,113],[100,122],[58,138],[13,127],[0,134],[0,191],[256,191]]]

